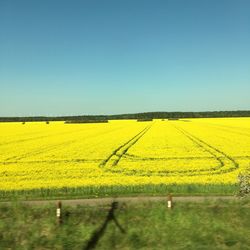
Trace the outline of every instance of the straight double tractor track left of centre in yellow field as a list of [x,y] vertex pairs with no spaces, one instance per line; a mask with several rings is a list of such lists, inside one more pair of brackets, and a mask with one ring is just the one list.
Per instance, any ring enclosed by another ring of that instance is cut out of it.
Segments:
[[99,165],[100,167],[105,167],[107,166],[111,161],[113,157],[116,157],[114,162],[112,163],[112,167],[117,166],[121,158],[123,157],[124,154],[133,146],[135,145],[147,132],[148,130],[152,127],[152,125],[147,126],[144,128],[142,131],[140,131],[138,134],[136,134],[134,137],[132,137],[130,140],[116,148],[111,155],[109,155],[102,163]]

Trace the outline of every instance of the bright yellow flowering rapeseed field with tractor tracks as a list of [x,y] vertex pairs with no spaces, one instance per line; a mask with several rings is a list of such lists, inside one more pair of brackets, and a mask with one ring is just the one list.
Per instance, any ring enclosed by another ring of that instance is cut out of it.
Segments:
[[0,131],[2,195],[185,193],[195,185],[223,193],[250,168],[250,118],[0,123]]

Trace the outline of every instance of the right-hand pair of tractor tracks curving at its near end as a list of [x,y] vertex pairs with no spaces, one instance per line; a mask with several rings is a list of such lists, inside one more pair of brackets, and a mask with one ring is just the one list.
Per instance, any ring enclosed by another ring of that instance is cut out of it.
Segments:
[[[223,171],[220,171],[220,173],[227,173],[227,172],[231,172],[235,169],[238,169],[239,168],[239,164],[230,156],[228,156],[226,153],[224,153],[223,151],[215,148],[214,146],[211,146],[210,144],[208,144],[207,142],[201,140],[200,138],[192,135],[191,133],[185,131],[184,129],[181,129],[181,128],[178,128],[176,126],[174,126],[179,132],[181,132],[183,135],[185,135],[187,138],[189,138],[192,142],[194,142],[196,145],[198,145],[199,147],[203,148],[205,151],[207,151],[208,153],[210,153],[211,155],[213,155],[213,157],[215,157],[219,162],[220,162],[220,166],[218,167],[218,169],[216,170],[219,170],[220,168],[224,167],[226,164],[225,162],[223,161],[223,158],[226,158],[227,160],[229,160],[232,165],[233,165],[233,168],[229,168],[227,170],[223,170]],[[209,149],[208,149],[208,148]],[[215,151],[217,153],[219,153],[220,155],[222,155],[222,157],[218,157],[216,155],[216,153],[212,152],[212,151]],[[200,170],[199,170],[200,171]],[[211,173],[212,174],[212,173]]]

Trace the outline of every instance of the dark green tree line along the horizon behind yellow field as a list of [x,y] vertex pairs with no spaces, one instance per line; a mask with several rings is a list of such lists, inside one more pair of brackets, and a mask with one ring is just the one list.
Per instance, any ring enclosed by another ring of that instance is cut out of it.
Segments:
[[208,111],[208,112],[145,112],[119,115],[78,115],[78,116],[30,116],[0,117],[0,122],[29,121],[98,121],[125,119],[181,119],[181,118],[219,118],[219,117],[250,117],[250,110],[239,111]]

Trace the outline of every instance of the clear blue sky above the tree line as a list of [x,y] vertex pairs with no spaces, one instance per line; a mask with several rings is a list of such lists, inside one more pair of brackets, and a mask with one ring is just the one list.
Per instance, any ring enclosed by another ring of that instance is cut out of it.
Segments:
[[249,0],[0,1],[0,116],[238,109]]

